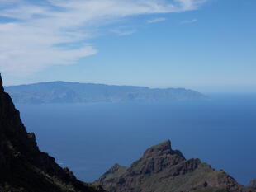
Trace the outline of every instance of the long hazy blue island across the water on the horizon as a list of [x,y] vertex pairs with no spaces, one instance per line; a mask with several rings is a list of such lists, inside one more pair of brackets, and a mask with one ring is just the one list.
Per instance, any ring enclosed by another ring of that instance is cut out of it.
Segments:
[[206,96],[185,88],[112,86],[79,82],[40,82],[9,86],[5,90],[15,103],[88,103],[122,101],[187,101]]

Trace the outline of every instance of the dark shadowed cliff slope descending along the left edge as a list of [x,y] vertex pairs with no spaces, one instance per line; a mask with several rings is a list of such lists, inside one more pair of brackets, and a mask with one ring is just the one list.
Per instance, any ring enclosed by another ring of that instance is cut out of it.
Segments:
[[0,76],[0,191],[104,191],[76,179],[68,168],[40,152],[34,133],[27,133],[19,111],[4,92]]

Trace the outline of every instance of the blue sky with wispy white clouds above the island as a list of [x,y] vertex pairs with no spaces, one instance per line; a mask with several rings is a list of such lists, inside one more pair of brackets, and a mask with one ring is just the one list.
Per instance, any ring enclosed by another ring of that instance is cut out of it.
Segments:
[[0,0],[5,85],[256,92],[255,0]]

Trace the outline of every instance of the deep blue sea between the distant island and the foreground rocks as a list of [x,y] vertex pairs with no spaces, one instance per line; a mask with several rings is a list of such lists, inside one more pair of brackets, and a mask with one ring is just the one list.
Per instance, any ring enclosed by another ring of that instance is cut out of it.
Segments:
[[215,94],[207,101],[17,105],[40,149],[80,180],[114,163],[129,166],[146,148],[172,141],[242,184],[256,177],[256,95]]

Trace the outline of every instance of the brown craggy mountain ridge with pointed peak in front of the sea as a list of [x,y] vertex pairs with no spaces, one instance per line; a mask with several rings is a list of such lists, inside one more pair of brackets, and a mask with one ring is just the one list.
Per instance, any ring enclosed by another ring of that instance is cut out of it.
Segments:
[[186,160],[170,141],[147,149],[130,167],[112,166],[96,183],[110,192],[256,191],[199,159]]

